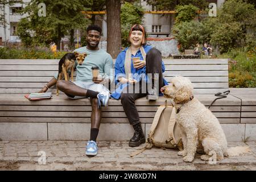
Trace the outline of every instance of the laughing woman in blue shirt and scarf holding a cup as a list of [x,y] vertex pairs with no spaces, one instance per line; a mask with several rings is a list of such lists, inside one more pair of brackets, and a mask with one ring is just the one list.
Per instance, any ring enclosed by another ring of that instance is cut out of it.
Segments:
[[[146,44],[143,26],[135,24],[131,27],[128,42],[130,47],[119,53],[115,61],[117,89],[111,97],[117,100],[121,98],[123,110],[125,110],[127,118],[135,130],[129,141],[129,146],[135,147],[145,143],[135,100],[145,96],[150,100],[156,100],[158,94],[162,94],[159,89],[168,83],[163,79],[162,73],[165,68],[162,55],[158,49]],[[134,57],[139,57],[140,60],[133,63]],[[154,73],[158,75],[154,76]]]

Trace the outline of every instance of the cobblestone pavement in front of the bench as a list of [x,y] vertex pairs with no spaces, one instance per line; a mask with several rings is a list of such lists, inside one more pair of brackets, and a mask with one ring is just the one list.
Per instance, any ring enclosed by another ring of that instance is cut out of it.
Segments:
[[[250,154],[235,156],[210,165],[196,154],[184,163],[177,150],[151,148],[130,157],[140,147],[128,142],[100,141],[98,155],[85,155],[85,141],[11,141],[0,142],[0,170],[256,170],[256,142],[229,142],[230,146],[251,148]],[[46,165],[39,165],[39,151],[46,152]]]

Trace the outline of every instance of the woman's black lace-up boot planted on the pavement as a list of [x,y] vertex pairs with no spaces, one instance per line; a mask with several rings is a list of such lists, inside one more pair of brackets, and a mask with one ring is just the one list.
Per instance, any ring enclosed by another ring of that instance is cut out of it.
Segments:
[[130,147],[138,147],[140,144],[145,143],[146,139],[144,137],[141,123],[133,125],[133,127],[134,127],[135,132],[133,134],[133,137],[129,141],[129,146]]

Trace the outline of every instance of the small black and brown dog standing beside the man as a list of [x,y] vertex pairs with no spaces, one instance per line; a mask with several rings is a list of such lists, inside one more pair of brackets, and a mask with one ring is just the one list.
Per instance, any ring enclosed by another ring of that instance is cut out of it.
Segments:
[[[74,66],[75,61],[77,60],[77,63],[79,65],[82,65],[84,62],[85,57],[87,56],[86,53],[66,53],[59,61],[59,74],[58,74],[58,80],[65,81],[69,80],[68,71],[71,70],[71,81],[73,80],[73,74],[74,74]],[[59,96],[59,89],[57,88],[56,96]]]

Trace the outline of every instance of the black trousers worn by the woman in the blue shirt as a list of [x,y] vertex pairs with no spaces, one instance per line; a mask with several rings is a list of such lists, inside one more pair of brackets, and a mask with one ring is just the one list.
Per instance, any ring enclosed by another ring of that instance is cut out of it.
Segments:
[[[146,55],[146,73],[152,74],[152,80],[151,84],[152,86],[155,86],[156,82],[154,80],[154,73],[158,73],[159,80],[157,82],[159,92],[160,88],[163,86],[163,73],[162,73],[162,54],[158,49],[152,48],[150,51],[148,51]],[[139,123],[139,113],[137,110],[137,107],[135,106],[135,100],[141,97],[147,96],[147,89],[145,92],[144,86],[146,83],[139,82],[136,85],[133,86],[133,89],[129,89],[129,86],[127,86],[126,89],[123,89],[123,92],[121,94],[121,103],[123,105],[123,110],[125,110],[125,114],[130,122],[131,125],[136,125]],[[147,86],[146,86],[147,88]],[[133,90],[133,92],[131,92]],[[139,90],[139,92],[138,92]]]

